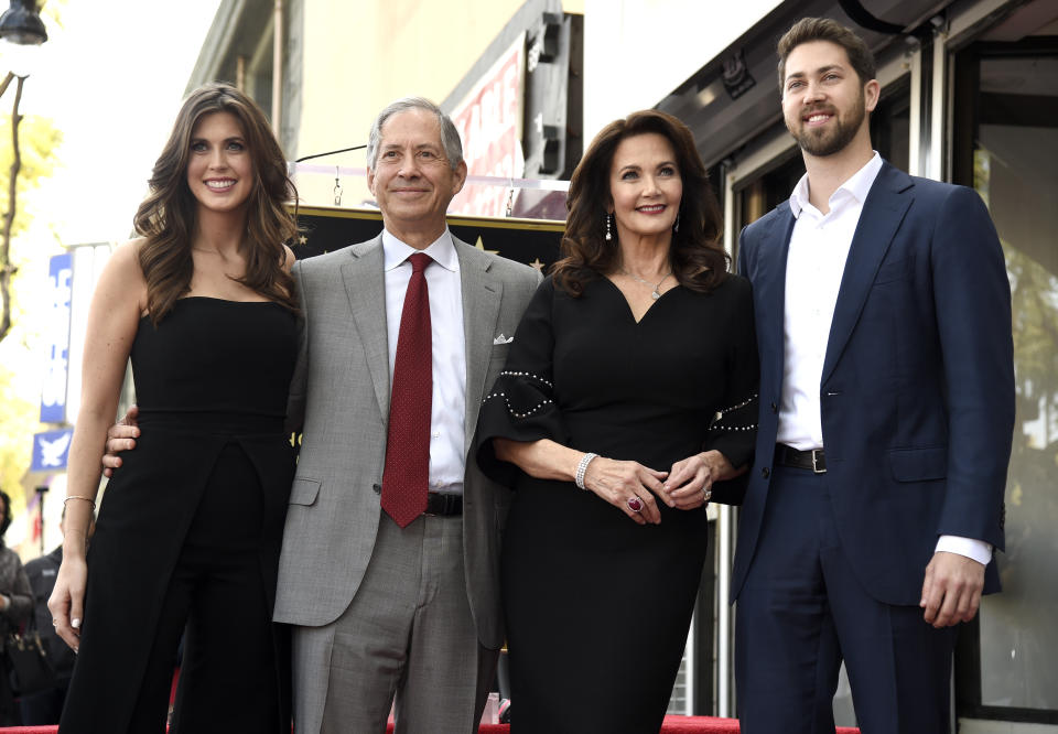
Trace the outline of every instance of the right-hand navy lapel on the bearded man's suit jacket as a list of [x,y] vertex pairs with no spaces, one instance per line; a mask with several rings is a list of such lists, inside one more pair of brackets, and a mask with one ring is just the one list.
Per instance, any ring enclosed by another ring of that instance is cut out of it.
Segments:
[[908,190],[914,185],[909,175],[885,163],[867,194],[841,277],[820,386],[830,378],[860,320],[878,266],[911,205]]

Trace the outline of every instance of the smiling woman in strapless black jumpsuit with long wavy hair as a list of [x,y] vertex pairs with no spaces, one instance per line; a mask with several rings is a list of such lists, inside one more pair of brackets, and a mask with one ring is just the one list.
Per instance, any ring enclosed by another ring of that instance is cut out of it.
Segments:
[[[272,600],[293,451],[296,356],[287,164],[246,95],[184,102],[93,296],[69,454],[63,563],[48,603],[79,650],[61,731],[290,732]],[[147,428],[111,479],[86,559],[102,438],[131,356]]]

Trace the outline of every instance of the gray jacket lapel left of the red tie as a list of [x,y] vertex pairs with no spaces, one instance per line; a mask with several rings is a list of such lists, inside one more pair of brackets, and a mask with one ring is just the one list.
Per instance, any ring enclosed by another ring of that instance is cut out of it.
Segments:
[[360,335],[367,368],[375,386],[378,410],[389,418],[389,345],[386,332],[386,278],[382,272],[382,237],[354,245],[342,266],[342,280],[349,299],[353,323]]

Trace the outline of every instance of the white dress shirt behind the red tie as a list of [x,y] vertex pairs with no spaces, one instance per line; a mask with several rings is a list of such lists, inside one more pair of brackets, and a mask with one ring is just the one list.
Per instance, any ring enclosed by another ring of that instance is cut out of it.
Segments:
[[430,338],[433,353],[433,399],[430,411],[430,492],[462,493],[466,462],[466,339],[463,333],[463,290],[460,259],[452,234],[445,229],[424,250],[417,250],[382,230],[386,272],[386,331],[389,342],[389,381],[393,381],[397,339],[404,293],[411,280],[408,257],[425,252],[430,291]]

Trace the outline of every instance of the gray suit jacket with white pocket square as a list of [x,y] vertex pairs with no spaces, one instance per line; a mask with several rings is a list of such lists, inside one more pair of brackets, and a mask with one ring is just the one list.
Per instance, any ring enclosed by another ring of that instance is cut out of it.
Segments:
[[[466,341],[465,446],[486,388],[509,345],[540,273],[453,237],[463,283]],[[380,516],[389,420],[389,353],[381,235],[300,261],[293,274],[302,307],[301,348],[288,414],[304,439],[290,495],[279,563],[276,620],[334,622],[359,587]],[[466,592],[478,637],[504,641],[499,538],[509,490],[466,462],[463,485]]]

